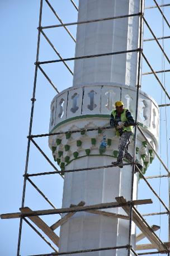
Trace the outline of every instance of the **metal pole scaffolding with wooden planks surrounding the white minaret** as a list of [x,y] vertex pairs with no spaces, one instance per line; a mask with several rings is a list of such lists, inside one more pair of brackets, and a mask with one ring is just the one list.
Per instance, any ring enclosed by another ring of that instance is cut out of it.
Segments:
[[[41,26],[41,19],[42,19],[42,10],[43,10],[43,1],[45,1],[51,11],[54,13],[56,19],[60,22],[58,25],[51,25],[51,26]],[[151,8],[158,8],[159,12],[161,13],[164,21],[170,28],[169,22],[166,19],[166,16],[161,10],[161,7],[169,7],[170,4],[162,4],[159,5],[157,1],[153,0],[155,3],[155,6],[149,6],[146,7],[146,9],[151,9]],[[74,3],[73,0],[70,0],[70,2],[73,4],[75,11],[78,11],[78,7]],[[16,213],[6,213],[6,214],[1,214],[2,219],[7,219],[7,218],[20,218],[20,227],[19,227],[19,234],[18,234],[18,246],[17,246],[17,256],[20,255],[20,245],[21,245],[21,233],[22,233],[22,222],[25,221],[27,225],[29,225],[40,237],[47,243],[51,249],[54,250],[53,253],[48,253],[48,254],[39,254],[39,255],[34,255],[34,256],[41,256],[41,255],[68,255],[68,254],[81,254],[81,253],[88,253],[88,252],[98,252],[102,250],[121,250],[121,249],[126,249],[128,250],[128,255],[132,252],[134,255],[147,255],[147,254],[158,254],[158,253],[165,253],[169,255],[169,247],[170,247],[170,239],[168,239],[168,242],[163,242],[160,240],[160,238],[155,234],[154,231],[157,231],[160,227],[153,225],[149,226],[147,221],[145,221],[144,217],[145,216],[154,216],[154,215],[161,215],[161,214],[167,214],[168,215],[168,233],[170,236],[170,212],[169,212],[169,205],[166,205],[166,203],[163,202],[163,200],[160,198],[160,196],[157,194],[157,192],[152,188],[150,183],[148,182],[149,179],[157,179],[160,177],[170,177],[170,172],[168,170],[168,167],[166,164],[162,161],[162,159],[159,157],[158,153],[155,151],[153,148],[152,144],[149,143],[147,137],[145,136],[143,130],[141,129],[140,125],[135,126],[135,138],[134,138],[134,150],[133,150],[133,163],[124,163],[124,165],[131,165],[132,166],[132,175],[131,175],[131,199],[130,201],[126,201],[125,198],[122,196],[116,198],[116,202],[110,202],[110,203],[101,203],[101,204],[95,204],[95,205],[85,205],[86,202],[79,202],[77,205],[70,205],[69,208],[60,208],[56,209],[53,203],[50,202],[48,198],[46,198],[45,194],[43,191],[41,191],[35,184],[34,182],[30,179],[30,177],[33,176],[45,176],[45,175],[54,175],[54,174],[59,174],[62,179],[64,179],[64,173],[66,172],[78,172],[78,171],[88,171],[88,170],[100,170],[102,168],[109,168],[113,167],[113,164],[107,165],[107,166],[97,166],[97,167],[92,167],[92,168],[79,168],[75,170],[58,170],[58,168],[53,164],[53,162],[50,161],[48,156],[43,152],[43,150],[39,147],[39,145],[35,142],[36,138],[43,138],[43,137],[49,137],[53,135],[59,135],[59,134],[67,134],[67,132],[54,132],[54,133],[47,133],[47,134],[37,134],[37,135],[32,135],[32,120],[34,116],[34,106],[35,106],[35,92],[36,92],[36,83],[37,83],[37,71],[40,70],[43,75],[46,77],[46,79],[49,81],[51,86],[53,86],[55,92],[59,93],[58,89],[56,86],[53,84],[51,81],[50,77],[45,73],[45,71],[42,68],[42,65],[45,65],[47,63],[54,63],[54,62],[63,62],[65,67],[67,67],[68,71],[70,74],[73,75],[72,70],[70,67],[67,65],[66,61],[74,61],[74,60],[80,60],[84,58],[95,58],[95,57],[101,57],[101,56],[109,56],[109,55],[115,55],[115,54],[124,54],[124,53],[129,53],[129,52],[136,52],[138,54],[138,83],[136,85],[136,110],[135,110],[135,122],[137,122],[137,116],[138,116],[138,99],[139,99],[139,91],[141,88],[140,81],[141,81],[141,75],[150,75],[153,74],[155,79],[157,79],[158,84],[166,94],[167,98],[170,99],[170,95],[168,94],[166,87],[162,84],[160,81],[159,77],[157,76],[157,73],[163,73],[163,72],[169,72],[170,70],[159,70],[159,71],[154,71],[153,67],[150,65],[148,58],[146,55],[143,53],[143,25],[145,24],[147,28],[149,29],[150,33],[152,34],[153,38],[151,39],[144,39],[144,42],[148,42],[150,40],[155,40],[155,42],[158,44],[158,47],[162,51],[164,57],[167,59],[168,63],[170,63],[170,60],[164,51],[162,45],[160,45],[159,40],[162,39],[169,39],[170,36],[162,36],[157,38],[155,34],[153,33],[153,30],[150,28],[147,20],[144,17],[144,0],[140,0],[140,12],[135,13],[133,15],[122,15],[122,16],[116,16],[116,17],[106,17],[105,19],[96,19],[96,20],[88,20],[88,21],[81,21],[81,22],[71,22],[71,23],[63,23],[63,21],[60,19],[54,8],[51,6],[50,2],[48,0],[40,0],[40,13],[39,13],[39,27],[38,29],[38,37],[37,37],[37,53],[36,53],[36,62],[35,62],[35,76],[34,76],[34,86],[33,86],[33,92],[32,92],[32,106],[31,106],[31,115],[30,115],[30,126],[29,126],[29,135],[27,136],[28,138],[28,144],[27,144],[27,155],[26,155],[26,164],[25,164],[25,173],[23,175],[23,193],[22,193],[22,204],[20,208],[20,212]],[[67,31],[69,34],[70,38],[75,42],[74,36],[70,33],[68,27],[70,25],[81,25],[81,24],[86,24],[86,23],[91,23],[91,22],[100,22],[100,21],[107,21],[107,20],[115,20],[115,19],[124,19],[125,17],[133,17],[133,16],[138,16],[139,17],[139,28],[140,28],[140,33],[139,33],[139,46],[137,49],[133,50],[127,50],[127,51],[121,51],[121,52],[110,52],[110,53],[105,53],[105,54],[95,54],[95,55],[90,55],[90,56],[79,56],[79,57],[73,57],[73,58],[62,58],[60,53],[55,49],[54,45],[50,42],[48,36],[46,36],[44,30],[45,29],[51,29],[51,28],[60,28],[62,27]],[[54,52],[58,55],[59,59],[58,60],[49,60],[49,61],[39,61],[39,49],[40,49],[40,36],[43,35],[44,38],[47,40],[47,42],[50,44],[51,48],[53,48]],[[145,60],[147,65],[149,66],[151,72],[145,72],[141,74],[141,60],[142,58]],[[170,106],[170,104],[160,104],[159,107],[166,107]],[[72,130],[69,131],[69,133],[75,133],[75,132],[82,132],[82,131],[93,131],[93,130],[98,130],[98,129],[112,129],[112,127],[97,127],[95,129],[81,129],[81,130]],[[137,130],[140,132],[140,134],[143,136],[145,141],[147,141],[148,145],[150,148],[152,148],[153,152],[155,153],[155,156],[159,159],[160,163],[164,167],[164,169],[167,171],[167,175],[157,175],[157,176],[148,176],[145,177],[143,173],[139,170],[139,168],[136,166],[135,162],[135,152],[136,152],[136,138],[137,138]],[[29,157],[30,157],[30,144],[35,145],[36,149],[39,150],[39,152],[43,155],[43,157],[48,161],[48,163],[54,168],[54,171],[51,172],[39,172],[39,173],[28,173],[28,163],[29,163]],[[152,204],[151,199],[144,199],[144,200],[133,200],[133,182],[134,182],[134,173],[135,173],[135,168],[138,168],[138,172],[140,173],[140,177],[145,181],[145,183],[148,185],[149,189],[152,191],[152,193],[157,197],[159,202],[163,205],[163,207],[166,209],[165,212],[155,212],[155,213],[147,213],[147,214],[140,214],[139,211],[135,208],[135,205],[141,205],[141,204]],[[26,183],[30,182],[30,184],[37,190],[37,192],[43,196],[43,198],[48,202],[53,209],[47,209],[47,210],[40,210],[40,211],[32,211],[29,207],[25,207],[25,196],[26,196]],[[170,198],[170,194],[168,195]],[[110,212],[105,212],[105,211],[100,211],[100,209],[108,209],[108,208],[116,208],[116,207],[122,207],[124,211],[126,212],[127,215],[122,215],[122,214],[116,214],[116,213],[110,213]],[[54,230],[58,228],[60,225],[63,223],[67,222],[67,220],[72,217],[76,212],[82,212],[82,211],[87,211],[89,213],[94,213],[94,214],[100,214],[102,216],[110,217],[110,218],[122,218],[124,220],[129,220],[129,242],[127,245],[124,246],[114,246],[114,247],[107,247],[107,248],[93,248],[93,249],[86,249],[86,250],[77,250],[77,251],[72,251],[72,252],[62,252],[59,253],[58,249],[55,248],[51,243],[45,239],[45,237],[33,226],[29,220],[34,222],[34,224],[40,228],[46,234],[53,243],[59,247],[59,237],[58,235],[55,234]],[[64,217],[60,218],[59,221],[55,222],[52,226],[48,226],[39,216],[45,216],[45,215],[50,215],[50,214],[62,214],[62,213],[67,213]],[[29,220],[28,220],[29,219]],[[142,244],[142,245],[136,245],[136,249],[131,246],[131,223],[134,222],[136,226],[138,226],[141,230],[141,233],[136,237],[136,241],[140,241],[144,237],[147,237],[148,240],[151,242],[151,244]],[[170,238],[170,237],[169,237]],[[148,252],[150,249],[157,249],[156,252]],[[147,250],[147,252],[144,253],[136,253],[135,250]],[[33,256],[33,255],[32,255]]]

